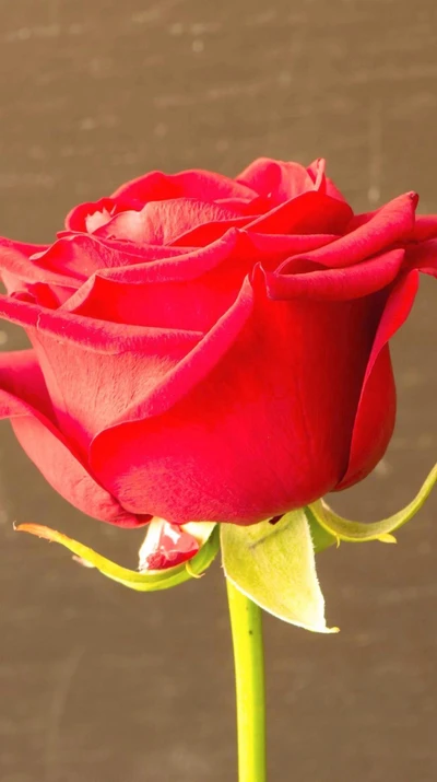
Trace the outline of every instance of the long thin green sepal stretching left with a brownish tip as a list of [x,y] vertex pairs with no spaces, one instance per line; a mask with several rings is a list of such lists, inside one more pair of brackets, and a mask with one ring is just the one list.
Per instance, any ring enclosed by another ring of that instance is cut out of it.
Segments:
[[[201,575],[206,568],[210,567],[220,547],[220,536],[216,526],[211,528],[211,534],[205,540],[198,553],[189,560],[188,563],[179,564],[176,568],[168,568],[163,571],[153,571],[151,573],[139,573],[135,570],[129,570],[113,562],[106,557],[94,551],[88,546],[84,546],[78,540],[67,537],[56,529],[42,526],[39,524],[20,524],[15,527],[17,532],[31,533],[39,538],[51,540],[61,544],[76,557],[80,557],[84,563],[96,568],[103,575],[106,575],[113,581],[117,581],[123,586],[137,592],[156,592],[157,590],[168,590],[172,586],[178,586],[185,581],[196,579]],[[187,567],[188,564],[188,567]]]

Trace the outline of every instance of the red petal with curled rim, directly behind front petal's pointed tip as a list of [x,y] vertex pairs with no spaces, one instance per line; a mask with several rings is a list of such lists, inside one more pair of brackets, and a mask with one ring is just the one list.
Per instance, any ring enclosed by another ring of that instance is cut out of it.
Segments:
[[256,262],[274,269],[293,249],[310,249],[331,237],[290,238],[294,241],[282,246],[232,230],[217,242],[179,256],[177,262],[170,258],[99,272],[64,308],[115,323],[208,331],[231,307]]

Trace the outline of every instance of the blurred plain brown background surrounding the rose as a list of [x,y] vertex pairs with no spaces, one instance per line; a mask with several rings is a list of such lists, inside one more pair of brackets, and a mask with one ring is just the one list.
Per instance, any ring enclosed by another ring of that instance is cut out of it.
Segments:
[[[435,0],[3,0],[0,233],[50,241],[75,202],[149,168],[310,162],[358,209],[437,211]],[[390,452],[336,507],[406,503],[437,454],[436,288],[395,340]],[[2,349],[24,341],[1,323]],[[231,782],[234,692],[218,567],[151,596],[15,536],[47,523],[128,563],[0,445],[1,782]],[[437,779],[437,494],[399,535],[319,558],[338,637],[267,618],[271,782]]]

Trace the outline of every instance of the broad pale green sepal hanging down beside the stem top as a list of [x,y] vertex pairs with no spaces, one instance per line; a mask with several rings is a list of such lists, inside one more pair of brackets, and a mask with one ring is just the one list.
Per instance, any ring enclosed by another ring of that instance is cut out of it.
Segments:
[[272,525],[221,524],[225,575],[269,614],[315,632],[334,632],[324,621],[311,534],[304,510]]

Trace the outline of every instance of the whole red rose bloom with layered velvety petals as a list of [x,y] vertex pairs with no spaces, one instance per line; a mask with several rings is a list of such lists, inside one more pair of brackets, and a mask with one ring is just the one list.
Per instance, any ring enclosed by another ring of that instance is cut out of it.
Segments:
[[251,524],[364,478],[390,440],[388,341],[437,217],[354,215],[324,176],[152,173],[76,207],[50,246],[1,241],[0,415],[92,516]]

